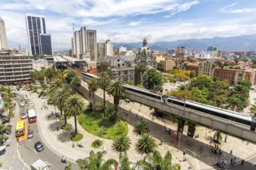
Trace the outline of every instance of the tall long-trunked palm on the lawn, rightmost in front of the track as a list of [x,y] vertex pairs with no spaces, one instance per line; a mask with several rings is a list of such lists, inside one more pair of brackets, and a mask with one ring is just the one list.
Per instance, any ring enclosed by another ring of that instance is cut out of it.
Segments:
[[116,116],[118,113],[118,106],[119,106],[119,99],[122,97],[123,94],[123,83],[120,80],[112,80],[109,83],[109,87],[107,88],[110,94],[114,97],[114,104],[115,104],[115,124],[116,124]]

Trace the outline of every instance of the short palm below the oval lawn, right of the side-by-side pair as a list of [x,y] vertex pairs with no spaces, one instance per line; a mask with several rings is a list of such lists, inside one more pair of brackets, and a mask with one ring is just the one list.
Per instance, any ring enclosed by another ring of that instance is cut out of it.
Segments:
[[156,141],[150,134],[144,134],[136,144],[136,150],[141,155],[152,153],[156,147]]

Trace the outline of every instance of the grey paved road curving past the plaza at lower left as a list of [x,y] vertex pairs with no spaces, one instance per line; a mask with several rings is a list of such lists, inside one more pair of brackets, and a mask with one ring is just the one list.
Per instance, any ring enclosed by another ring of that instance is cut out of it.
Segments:
[[[20,101],[22,96],[17,97],[17,100]],[[18,102],[19,103],[19,102]],[[29,100],[27,100],[27,104],[24,107],[19,107],[19,113],[25,112],[28,107]],[[38,120],[40,121],[40,120]],[[33,162],[36,162],[37,159],[42,159],[44,162],[47,162],[51,165],[50,169],[64,169],[65,164],[61,162],[61,156],[51,151],[47,145],[43,143],[42,138],[40,137],[40,133],[37,127],[37,123],[29,124],[30,129],[33,130],[33,138],[26,139],[22,141],[22,145],[19,146],[19,152],[27,165],[31,165]],[[43,151],[36,151],[34,148],[34,144],[36,141],[41,141],[44,145]],[[68,162],[67,162],[68,163]],[[77,165],[72,165],[73,169],[78,169]]]

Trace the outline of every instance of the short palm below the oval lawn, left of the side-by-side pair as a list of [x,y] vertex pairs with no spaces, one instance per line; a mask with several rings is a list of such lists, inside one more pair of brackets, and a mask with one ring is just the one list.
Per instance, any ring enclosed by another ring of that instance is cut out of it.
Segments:
[[129,150],[131,145],[130,138],[128,136],[119,136],[113,144],[112,144],[112,149],[117,152],[126,152]]

